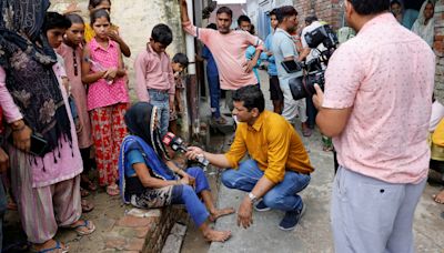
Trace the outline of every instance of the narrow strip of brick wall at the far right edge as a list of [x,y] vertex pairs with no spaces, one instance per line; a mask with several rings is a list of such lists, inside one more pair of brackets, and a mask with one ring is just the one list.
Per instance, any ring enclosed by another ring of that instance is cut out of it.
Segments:
[[435,6],[433,48],[436,53],[435,97],[441,103],[444,103],[444,0],[438,0]]

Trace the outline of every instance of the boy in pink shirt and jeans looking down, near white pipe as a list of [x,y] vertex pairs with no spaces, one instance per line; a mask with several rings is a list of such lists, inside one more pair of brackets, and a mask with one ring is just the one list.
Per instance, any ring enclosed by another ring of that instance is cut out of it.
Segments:
[[165,52],[172,41],[171,29],[163,23],[157,24],[147,50],[134,62],[138,98],[158,108],[161,136],[167,134],[170,113],[174,113],[174,75],[170,57]]

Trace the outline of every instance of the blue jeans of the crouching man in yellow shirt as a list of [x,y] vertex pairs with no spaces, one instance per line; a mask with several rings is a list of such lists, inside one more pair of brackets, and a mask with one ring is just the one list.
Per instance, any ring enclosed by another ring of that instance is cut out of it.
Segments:
[[[264,175],[254,160],[241,163],[239,170],[228,170],[222,173],[222,183],[230,189],[251,192],[258,181]],[[263,202],[271,209],[294,211],[302,208],[302,199],[297,195],[309,185],[310,175],[286,171],[284,180],[274,185],[263,196]]]

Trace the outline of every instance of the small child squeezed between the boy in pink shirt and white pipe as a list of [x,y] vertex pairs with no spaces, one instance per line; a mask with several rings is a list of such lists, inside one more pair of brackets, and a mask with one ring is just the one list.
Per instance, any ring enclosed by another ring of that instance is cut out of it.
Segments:
[[174,83],[175,83],[175,95],[174,95],[174,111],[170,113],[170,131],[174,134],[178,134],[178,119],[183,117],[183,107],[184,101],[181,92],[185,89],[183,84],[181,73],[188,67],[188,57],[183,53],[176,53],[173,57],[173,61],[171,63],[171,68],[173,69],[174,73]]

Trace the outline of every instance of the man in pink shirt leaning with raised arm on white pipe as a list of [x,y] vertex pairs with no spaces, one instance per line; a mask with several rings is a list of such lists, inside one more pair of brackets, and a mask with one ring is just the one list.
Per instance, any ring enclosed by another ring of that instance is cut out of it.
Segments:
[[[186,12],[186,0],[181,2],[182,27],[185,32],[201,40],[213,53],[218,65],[222,90],[235,91],[239,88],[258,84],[253,68],[263,49],[263,42],[249,32],[231,30],[233,12],[228,7],[219,8],[216,12],[218,30],[194,27]],[[254,45],[256,52],[251,60],[245,59],[249,45]],[[231,92],[229,92],[231,93]],[[226,104],[233,108],[231,95],[228,95]]]

